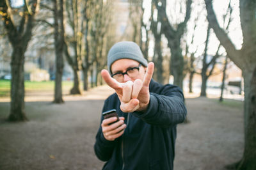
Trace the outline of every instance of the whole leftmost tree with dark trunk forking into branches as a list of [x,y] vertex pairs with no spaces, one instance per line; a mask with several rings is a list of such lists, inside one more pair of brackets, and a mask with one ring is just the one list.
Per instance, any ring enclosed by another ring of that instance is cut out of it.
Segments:
[[13,8],[10,1],[0,2],[0,12],[3,18],[4,27],[7,31],[8,39],[12,44],[11,61],[11,111],[8,117],[10,121],[28,120],[24,106],[24,61],[28,43],[32,37],[33,20],[38,12],[39,0],[24,1],[22,11],[20,11],[19,23],[15,23]]

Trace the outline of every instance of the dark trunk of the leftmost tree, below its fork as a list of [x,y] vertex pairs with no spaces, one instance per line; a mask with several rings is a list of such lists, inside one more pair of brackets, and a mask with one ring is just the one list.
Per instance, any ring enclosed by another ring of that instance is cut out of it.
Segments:
[[13,48],[11,81],[11,111],[9,121],[28,120],[25,114],[24,102],[24,52],[22,47]]

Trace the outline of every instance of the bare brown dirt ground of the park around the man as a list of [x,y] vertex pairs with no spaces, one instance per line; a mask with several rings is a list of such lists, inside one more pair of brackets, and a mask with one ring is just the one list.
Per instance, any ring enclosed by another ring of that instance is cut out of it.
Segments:
[[[0,169],[102,169],[93,151],[106,86],[82,96],[64,95],[52,104],[52,92],[26,92],[29,121],[5,121],[8,98],[0,98]],[[224,169],[243,155],[243,102],[187,98],[189,123],[177,126],[175,170]]]

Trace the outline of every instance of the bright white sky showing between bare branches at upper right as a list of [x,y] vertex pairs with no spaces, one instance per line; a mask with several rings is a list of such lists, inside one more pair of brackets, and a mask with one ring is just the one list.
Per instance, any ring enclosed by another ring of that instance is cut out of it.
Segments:
[[[180,5],[179,2],[183,4]],[[186,5],[185,0],[168,0],[167,1],[167,10],[166,13],[170,17],[171,20],[178,20],[177,23],[184,20]],[[150,10],[151,10],[151,0],[144,0],[143,6],[145,7],[145,17],[144,22],[147,22],[148,18],[150,17]],[[178,2],[178,3],[177,3]],[[223,14],[226,13],[228,8],[229,0],[222,0],[222,1],[213,1],[213,8],[214,12],[216,13],[216,17],[220,23],[220,26],[223,27]],[[174,7],[173,7],[174,6]],[[239,20],[239,0],[232,0],[231,6],[233,7],[232,12],[232,22],[230,23],[229,33],[228,36],[234,43],[237,49],[241,49],[241,44],[243,43],[243,35],[241,32],[241,25]],[[180,12],[181,10],[181,12]],[[195,31],[195,38],[193,45],[190,45],[189,51],[194,52],[196,47],[198,47],[197,56],[202,55],[204,52],[204,43],[206,39],[207,33],[207,20],[206,15],[207,12],[205,10],[205,4],[203,0],[193,1],[192,4],[192,12],[191,18],[188,22],[188,33],[186,37],[186,41],[189,43],[191,42],[191,37],[193,35],[193,27],[195,26],[195,17],[199,15],[198,22],[196,22],[196,31]],[[172,23],[175,24],[175,23]],[[214,35],[213,31],[211,30],[210,42],[209,42],[209,54],[215,54],[216,49],[218,48],[219,41],[218,38]],[[154,47],[154,43],[152,45]],[[221,48],[220,53],[225,52],[223,48]],[[152,53],[152,52],[151,52]]]

